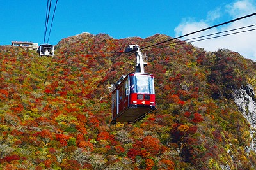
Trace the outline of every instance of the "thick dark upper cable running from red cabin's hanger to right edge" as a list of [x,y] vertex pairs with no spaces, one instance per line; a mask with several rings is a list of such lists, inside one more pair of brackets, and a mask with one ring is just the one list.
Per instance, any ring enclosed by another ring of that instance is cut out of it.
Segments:
[[156,44],[154,44],[154,45],[145,46],[145,47],[140,48],[140,49],[143,50],[143,49],[145,49],[145,48],[150,48],[150,47],[152,47],[152,46],[161,45],[161,44],[163,44],[163,43],[167,43],[168,41],[172,41],[172,40],[174,40],[174,39],[179,39],[179,38],[182,38],[182,37],[184,37],[184,36],[189,36],[189,35],[192,35],[192,34],[196,34],[196,33],[198,33],[198,32],[206,31],[206,30],[212,29],[212,28],[214,28],[214,27],[219,27],[219,26],[221,26],[221,25],[229,24],[229,23],[235,22],[235,21],[237,21],[237,20],[241,20],[241,19],[244,19],[244,18],[252,17],[253,15],[256,15],[256,13],[252,13],[252,14],[246,15],[246,16],[244,16],[244,17],[236,18],[236,19],[234,19],[234,20],[229,20],[229,21],[223,22],[223,23],[221,23],[221,24],[213,25],[213,26],[207,27],[207,28],[205,28],[205,29],[200,29],[200,30],[198,30],[198,31],[191,32],[191,33],[189,33],[189,34],[185,34],[185,35],[179,36],[179,37],[177,37],[177,38],[168,39],[168,40],[166,40],[166,41],[162,41],[162,42],[156,43]]

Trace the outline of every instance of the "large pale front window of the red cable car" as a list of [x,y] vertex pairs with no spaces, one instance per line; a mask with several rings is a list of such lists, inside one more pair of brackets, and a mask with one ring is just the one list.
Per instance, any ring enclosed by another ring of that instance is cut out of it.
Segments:
[[134,75],[130,76],[131,93],[155,94],[154,78],[152,76]]

